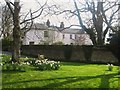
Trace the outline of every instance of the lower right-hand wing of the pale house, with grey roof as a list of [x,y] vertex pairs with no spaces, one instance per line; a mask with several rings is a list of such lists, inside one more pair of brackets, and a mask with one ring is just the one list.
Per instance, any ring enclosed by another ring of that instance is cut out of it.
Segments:
[[[61,31],[64,44],[82,45],[82,38],[87,34],[81,29],[68,28]],[[82,36],[82,37],[81,37]],[[80,39],[81,38],[81,39]]]

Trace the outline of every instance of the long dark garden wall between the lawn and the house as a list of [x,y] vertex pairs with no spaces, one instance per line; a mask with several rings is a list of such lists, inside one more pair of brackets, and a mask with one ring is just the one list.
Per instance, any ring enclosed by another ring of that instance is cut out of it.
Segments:
[[[89,56],[88,47],[84,50],[83,46],[69,45],[23,45],[21,52],[26,55],[37,57],[38,54],[45,55],[46,58],[60,61],[86,62],[86,56]],[[93,47],[91,62],[98,63],[117,63],[117,59],[106,47]]]

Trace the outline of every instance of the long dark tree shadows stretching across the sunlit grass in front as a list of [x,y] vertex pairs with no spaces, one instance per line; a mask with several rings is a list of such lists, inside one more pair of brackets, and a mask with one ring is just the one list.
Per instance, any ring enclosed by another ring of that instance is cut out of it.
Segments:
[[[19,84],[19,83],[30,83],[30,82],[42,82],[42,81],[48,82],[50,80],[55,82],[57,80],[58,82],[50,83],[50,84],[47,84],[43,87],[33,87],[33,88],[57,88],[59,86],[63,86],[63,85],[66,85],[66,84],[71,84],[71,83],[74,83],[74,82],[79,82],[79,81],[82,81],[82,80],[100,78],[101,83],[99,85],[99,88],[110,88],[109,79],[110,78],[117,78],[117,77],[115,77],[116,75],[118,75],[118,74],[114,73],[114,74],[97,75],[97,76],[68,76],[68,77],[59,77],[59,78],[50,78],[50,79],[26,80],[26,81],[18,81],[18,82],[6,82],[6,83],[3,82],[3,85],[12,85],[12,84],[16,84],[16,83]],[[64,80],[64,81],[59,82],[60,80]]]

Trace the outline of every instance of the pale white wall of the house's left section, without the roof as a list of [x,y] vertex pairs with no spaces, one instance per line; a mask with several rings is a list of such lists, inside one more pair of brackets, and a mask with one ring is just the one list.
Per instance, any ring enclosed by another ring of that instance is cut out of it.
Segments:
[[[44,31],[48,31],[49,37],[44,37]],[[48,42],[52,44],[54,42],[61,41],[61,33],[55,30],[30,30],[23,38],[23,45],[29,45],[30,42],[34,44],[44,44]]]

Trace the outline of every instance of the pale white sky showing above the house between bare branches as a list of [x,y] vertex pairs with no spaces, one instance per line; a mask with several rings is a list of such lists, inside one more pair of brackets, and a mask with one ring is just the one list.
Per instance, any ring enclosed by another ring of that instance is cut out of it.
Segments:
[[[14,0],[11,0],[14,1]],[[37,2],[39,1],[40,4],[38,4]],[[82,3],[84,3],[85,0],[76,0],[77,4],[80,6]],[[97,0],[94,0],[97,1]],[[101,0],[99,0],[101,1]],[[102,1],[106,1],[106,0],[102,0]],[[110,0],[115,1],[115,0]],[[46,0],[20,0],[20,4],[22,5],[21,8],[21,14],[22,15],[26,15],[26,13],[31,9],[32,11],[35,11],[36,9],[38,9],[40,7],[40,5],[43,5],[46,2]],[[4,0],[0,0],[0,5],[4,4],[5,1]],[[74,9],[74,3],[73,0],[47,0],[47,3],[49,6],[51,5],[58,5],[60,6],[61,10],[63,9]],[[77,17],[72,17],[72,18],[67,18],[69,15],[62,14],[59,16],[56,15],[48,15],[48,16],[44,16],[41,15],[39,18],[35,19],[34,22],[38,22],[38,23],[45,23],[47,21],[47,19],[50,20],[51,25],[55,25],[55,26],[59,26],[60,22],[64,22],[65,27],[70,26],[72,24],[74,25],[79,25],[79,21]],[[84,13],[81,14],[82,19],[88,19],[91,18],[91,14],[89,13]]]

